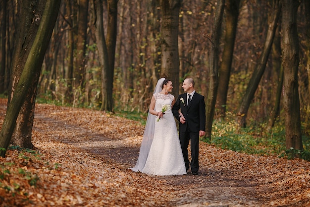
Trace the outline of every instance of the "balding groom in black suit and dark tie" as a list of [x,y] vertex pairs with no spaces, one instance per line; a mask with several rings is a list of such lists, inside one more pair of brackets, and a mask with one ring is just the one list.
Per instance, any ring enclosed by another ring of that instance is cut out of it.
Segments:
[[[196,93],[193,78],[186,78],[183,82],[183,94],[180,94],[172,107],[173,115],[180,122],[179,138],[186,171],[190,168],[187,147],[191,140],[191,171],[193,175],[198,175],[198,151],[199,137],[206,133],[206,104],[205,97]],[[181,113],[179,114],[179,109]]]

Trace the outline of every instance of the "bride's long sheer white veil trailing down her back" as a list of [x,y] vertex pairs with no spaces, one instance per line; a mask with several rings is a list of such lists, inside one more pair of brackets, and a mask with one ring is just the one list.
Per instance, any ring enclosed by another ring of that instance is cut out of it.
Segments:
[[[157,81],[153,94],[159,93],[162,90],[162,83],[164,80],[165,78],[160,78]],[[134,172],[139,172],[139,171],[142,172],[144,165],[147,161],[148,154],[149,154],[149,151],[150,151],[150,148],[153,142],[153,138],[154,138],[154,129],[155,129],[155,117],[154,116],[155,115],[150,114],[150,109],[149,109],[147,123],[145,125],[145,130],[144,130],[144,134],[143,134],[143,138],[141,142],[140,153],[139,153],[137,163],[133,168],[129,168]]]

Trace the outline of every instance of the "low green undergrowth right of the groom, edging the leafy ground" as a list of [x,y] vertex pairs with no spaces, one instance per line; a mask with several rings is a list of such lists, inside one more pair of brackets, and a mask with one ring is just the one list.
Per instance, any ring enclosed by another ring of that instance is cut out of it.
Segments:
[[249,122],[240,129],[234,115],[227,113],[224,120],[215,120],[211,140],[202,139],[214,146],[248,154],[278,155],[293,159],[299,157],[310,161],[310,137],[303,136],[304,150],[289,149],[285,145],[284,123],[279,121],[268,133],[266,123]]

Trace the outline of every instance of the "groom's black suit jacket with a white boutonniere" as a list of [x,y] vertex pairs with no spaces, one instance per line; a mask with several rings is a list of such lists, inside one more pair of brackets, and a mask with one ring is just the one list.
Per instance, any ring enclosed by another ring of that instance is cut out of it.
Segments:
[[[190,106],[187,106],[187,93],[180,94],[172,107],[172,113],[180,123],[179,131],[186,132],[187,127],[191,132],[206,131],[206,104],[205,97],[194,93]],[[182,103],[183,98],[184,103]],[[185,123],[180,122],[179,109],[186,119]]]

